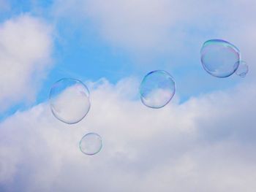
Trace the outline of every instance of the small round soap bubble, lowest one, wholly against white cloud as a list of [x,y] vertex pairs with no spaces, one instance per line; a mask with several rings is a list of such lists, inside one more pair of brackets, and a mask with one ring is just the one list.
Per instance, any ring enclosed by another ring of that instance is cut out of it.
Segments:
[[102,138],[95,133],[86,134],[80,140],[79,147],[86,155],[95,155],[102,149]]

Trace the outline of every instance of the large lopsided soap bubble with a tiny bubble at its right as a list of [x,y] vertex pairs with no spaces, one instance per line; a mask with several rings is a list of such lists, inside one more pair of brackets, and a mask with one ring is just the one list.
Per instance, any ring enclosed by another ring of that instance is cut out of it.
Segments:
[[200,51],[203,68],[214,77],[229,77],[236,72],[240,51],[221,39],[208,40]]

